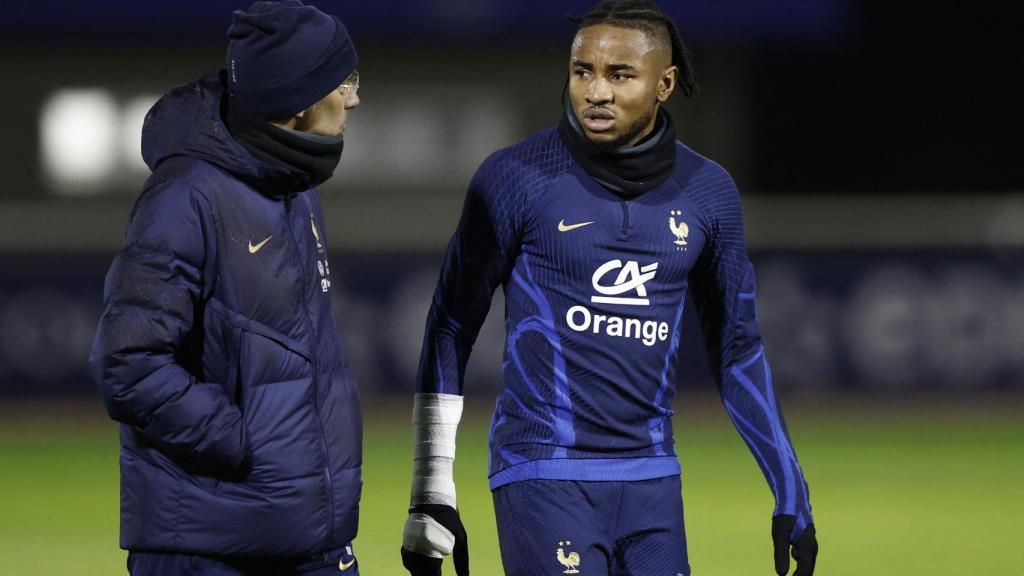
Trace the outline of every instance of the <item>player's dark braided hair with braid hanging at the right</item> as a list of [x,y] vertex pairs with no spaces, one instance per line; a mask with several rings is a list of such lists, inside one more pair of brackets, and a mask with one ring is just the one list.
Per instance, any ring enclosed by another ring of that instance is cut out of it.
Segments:
[[642,30],[648,34],[665,31],[672,41],[672,64],[679,68],[679,85],[686,97],[700,91],[693,74],[693,57],[683,44],[676,23],[651,0],[604,0],[583,16],[568,16],[580,30],[598,25]]

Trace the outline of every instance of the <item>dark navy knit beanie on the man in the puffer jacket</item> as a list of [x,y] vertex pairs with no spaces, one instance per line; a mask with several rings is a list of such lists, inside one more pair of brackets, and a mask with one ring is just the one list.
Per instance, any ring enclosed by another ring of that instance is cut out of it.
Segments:
[[341,20],[300,0],[256,2],[231,19],[228,90],[241,108],[266,120],[319,101],[359,64]]

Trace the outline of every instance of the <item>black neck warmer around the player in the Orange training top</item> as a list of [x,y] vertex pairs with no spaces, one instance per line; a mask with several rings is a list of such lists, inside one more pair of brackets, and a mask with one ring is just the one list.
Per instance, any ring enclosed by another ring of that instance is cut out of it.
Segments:
[[566,104],[558,123],[565,147],[580,166],[624,198],[635,198],[662,186],[676,167],[676,123],[664,108],[657,112],[654,129],[634,146],[602,151],[583,132],[583,127]]

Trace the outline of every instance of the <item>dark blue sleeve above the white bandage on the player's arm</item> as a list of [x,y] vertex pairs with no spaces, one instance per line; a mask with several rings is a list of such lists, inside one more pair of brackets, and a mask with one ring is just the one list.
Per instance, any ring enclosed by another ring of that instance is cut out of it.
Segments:
[[[463,394],[470,351],[519,250],[521,197],[492,156],[470,182],[427,315],[417,392]],[[506,167],[507,169],[507,167]]]

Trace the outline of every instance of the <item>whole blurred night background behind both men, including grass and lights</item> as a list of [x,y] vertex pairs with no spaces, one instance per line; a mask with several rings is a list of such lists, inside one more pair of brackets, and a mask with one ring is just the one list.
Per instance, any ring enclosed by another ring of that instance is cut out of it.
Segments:
[[[142,119],[221,66],[244,2],[5,3],[0,16],[0,572],[124,574],[116,426],[86,369],[146,176]],[[819,574],[1024,570],[1020,25],[939,1],[663,1],[703,92],[680,137],[744,197],[762,331],[819,526]],[[321,190],[367,409],[365,575],[400,573],[423,322],[465,187],[554,124],[590,2],[324,1],[360,108]],[[485,483],[502,296],[467,376],[457,481],[501,574]],[[691,564],[771,573],[771,498],[684,327],[677,448]],[[550,556],[555,545],[539,549]]]

